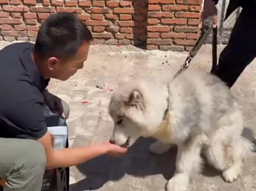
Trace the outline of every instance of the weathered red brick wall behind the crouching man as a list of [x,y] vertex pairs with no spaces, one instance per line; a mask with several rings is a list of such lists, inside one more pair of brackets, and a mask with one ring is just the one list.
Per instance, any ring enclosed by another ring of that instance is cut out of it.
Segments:
[[0,0],[0,40],[34,41],[42,21],[76,12],[94,44],[188,50],[198,38],[202,0]]

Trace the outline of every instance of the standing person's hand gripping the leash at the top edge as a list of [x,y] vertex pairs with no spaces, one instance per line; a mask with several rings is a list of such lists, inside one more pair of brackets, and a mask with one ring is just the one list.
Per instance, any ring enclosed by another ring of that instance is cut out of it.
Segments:
[[203,21],[208,17],[212,17],[213,27],[215,28],[218,24],[218,10],[213,0],[204,1],[204,9],[202,12]]

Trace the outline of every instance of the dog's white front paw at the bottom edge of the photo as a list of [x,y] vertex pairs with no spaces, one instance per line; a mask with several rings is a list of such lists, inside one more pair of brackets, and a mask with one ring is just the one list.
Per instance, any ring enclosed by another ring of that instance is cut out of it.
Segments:
[[187,174],[174,175],[165,185],[165,191],[186,191],[188,189],[189,177]]

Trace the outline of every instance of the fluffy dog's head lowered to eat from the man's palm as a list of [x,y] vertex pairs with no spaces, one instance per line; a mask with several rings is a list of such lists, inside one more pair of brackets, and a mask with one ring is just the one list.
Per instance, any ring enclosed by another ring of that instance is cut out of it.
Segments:
[[140,136],[152,136],[163,120],[167,98],[167,86],[162,83],[137,80],[119,86],[108,107],[114,121],[110,142],[127,148]]

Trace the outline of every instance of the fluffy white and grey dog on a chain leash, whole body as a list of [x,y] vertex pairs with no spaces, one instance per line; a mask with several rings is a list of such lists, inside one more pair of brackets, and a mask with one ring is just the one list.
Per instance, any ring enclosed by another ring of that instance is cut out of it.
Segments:
[[149,150],[156,154],[178,145],[167,191],[187,190],[192,170],[200,169],[201,151],[225,181],[235,181],[253,149],[241,136],[243,116],[235,98],[219,78],[204,71],[188,69],[170,83],[172,77],[143,77],[114,91],[111,142],[128,147],[140,136],[155,137]]

